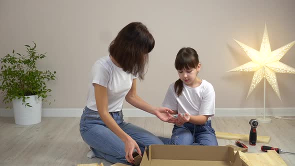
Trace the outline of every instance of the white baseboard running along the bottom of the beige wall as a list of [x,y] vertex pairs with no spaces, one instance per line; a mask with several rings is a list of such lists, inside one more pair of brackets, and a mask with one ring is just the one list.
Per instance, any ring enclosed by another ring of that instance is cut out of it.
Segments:
[[[42,116],[78,117],[83,108],[43,108]],[[266,108],[267,116],[295,116],[295,107]],[[137,108],[124,108],[124,116],[154,116]],[[215,108],[215,116],[262,116],[263,108]],[[12,109],[0,108],[0,116],[13,116]]]

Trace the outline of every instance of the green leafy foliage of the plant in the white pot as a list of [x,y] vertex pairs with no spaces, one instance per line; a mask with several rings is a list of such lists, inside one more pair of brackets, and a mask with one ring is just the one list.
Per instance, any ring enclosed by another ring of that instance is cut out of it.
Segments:
[[28,95],[37,95],[43,100],[51,91],[46,87],[46,81],[54,80],[56,71],[37,69],[36,61],[46,56],[45,53],[39,54],[36,51],[36,43],[34,41],[33,43],[34,46],[24,45],[26,53],[23,55],[14,52],[13,49],[11,55],[7,54],[0,58],[0,91],[4,93],[4,103],[21,98],[22,104],[31,107],[25,100],[29,98]]

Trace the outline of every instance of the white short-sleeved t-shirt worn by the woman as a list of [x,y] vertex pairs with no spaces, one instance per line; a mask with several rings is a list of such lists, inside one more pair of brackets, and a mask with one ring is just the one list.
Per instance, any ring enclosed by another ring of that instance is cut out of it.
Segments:
[[91,69],[86,106],[97,111],[93,86],[93,83],[96,83],[107,89],[108,112],[121,110],[123,100],[131,88],[133,78],[136,78],[136,76],[116,66],[109,56],[98,59]]

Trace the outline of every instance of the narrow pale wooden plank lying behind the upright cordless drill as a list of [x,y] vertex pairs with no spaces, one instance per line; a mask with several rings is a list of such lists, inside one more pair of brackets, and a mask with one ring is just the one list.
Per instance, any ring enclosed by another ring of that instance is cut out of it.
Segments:
[[[230,132],[215,132],[216,137],[220,139],[231,139],[231,140],[243,140],[249,141],[249,134],[238,134]],[[257,142],[268,143],[270,141],[270,136],[259,136],[257,135]]]

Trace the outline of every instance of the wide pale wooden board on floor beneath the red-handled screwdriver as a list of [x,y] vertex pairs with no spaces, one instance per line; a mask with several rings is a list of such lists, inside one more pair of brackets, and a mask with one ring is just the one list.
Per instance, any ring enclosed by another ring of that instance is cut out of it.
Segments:
[[267,150],[261,153],[238,152],[245,166],[287,166],[275,150]]

